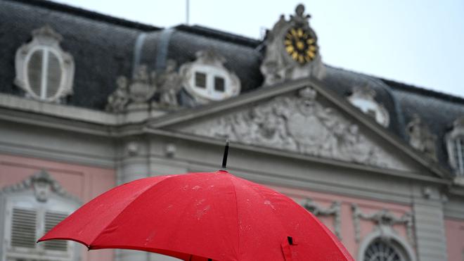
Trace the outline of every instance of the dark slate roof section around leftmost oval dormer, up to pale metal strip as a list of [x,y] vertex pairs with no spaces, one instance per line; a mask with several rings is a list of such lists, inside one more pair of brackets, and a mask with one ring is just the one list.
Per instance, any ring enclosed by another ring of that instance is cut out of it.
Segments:
[[136,37],[158,30],[138,23],[49,1],[0,1],[0,91],[20,94],[13,85],[15,52],[32,30],[50,25],[63,36],[61,47],[75,60],[74,94],[67,103],[103,109],[117,75],[130,75]]

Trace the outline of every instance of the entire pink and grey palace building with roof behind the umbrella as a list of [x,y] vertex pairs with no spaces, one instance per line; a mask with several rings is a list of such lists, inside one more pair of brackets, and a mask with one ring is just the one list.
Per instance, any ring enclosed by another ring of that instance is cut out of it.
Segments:
[[217,170],[226,139],[356,260],[463,260],[464,98],[326,65],[309,21],[248,39],[0,1],[0,260],[172,260],[35,241],[118,184]]

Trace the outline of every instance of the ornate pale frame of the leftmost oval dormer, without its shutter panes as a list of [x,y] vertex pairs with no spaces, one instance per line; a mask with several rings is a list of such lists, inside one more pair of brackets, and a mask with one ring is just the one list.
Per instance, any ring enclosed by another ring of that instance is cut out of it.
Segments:
[[[60,47],[60,41],[63,39],[60,34],[56,33],[51,27],[41,27],[32,32],[32,41],[20,46],[16,51],[15,56],[15,70],[16,78],[15,84],[23,89],[27,97],[37,99],[39,101],[56,101],[59,102],[60,98],[72,94],[72,82],[74,80],[74,59],[70,53],[66,53]],[[35,51],[42,51],[41,63],[41,83],[40,94],[35,94],[30,86],[30,79],[28,75],[28,65],[32,54]],[[58,58],[60,65],[60,83],[56,94],[53,96],[46,96],[46,89],[48,87],[47,73],[49,70],[49,53],[53,53]]]

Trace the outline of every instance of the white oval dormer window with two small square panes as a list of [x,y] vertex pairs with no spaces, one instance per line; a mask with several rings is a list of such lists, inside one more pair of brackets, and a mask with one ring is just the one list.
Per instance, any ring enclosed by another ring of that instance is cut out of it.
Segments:
[[240,80],[223,65],[225,59],[212,50],[197,53],[197,60],[182,65],[186,91],[198,103],[221,101],[240,93]]

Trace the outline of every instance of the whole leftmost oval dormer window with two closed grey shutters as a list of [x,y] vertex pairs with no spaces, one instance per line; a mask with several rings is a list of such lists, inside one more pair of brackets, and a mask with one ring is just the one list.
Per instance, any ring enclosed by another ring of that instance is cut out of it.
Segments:
[[74,61],[59,46],[63,39],[51,27],[32,32],[32,42],[16,51],[15,84],[41,101],[59,101],[72,93]]

